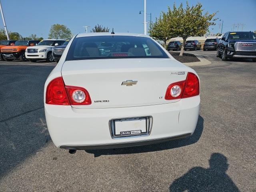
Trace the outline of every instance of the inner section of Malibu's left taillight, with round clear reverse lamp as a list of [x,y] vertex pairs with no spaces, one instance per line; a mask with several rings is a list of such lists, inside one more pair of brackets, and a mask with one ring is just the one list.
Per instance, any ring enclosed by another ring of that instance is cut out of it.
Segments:
[[89,92],[82,87],[66,86],[71,105],[90,105],[92,100]]

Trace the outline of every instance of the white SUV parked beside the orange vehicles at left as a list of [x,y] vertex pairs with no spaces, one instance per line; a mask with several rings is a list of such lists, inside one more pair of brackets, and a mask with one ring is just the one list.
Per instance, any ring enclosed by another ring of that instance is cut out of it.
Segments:
[[36,46],[27,47],[25,56],[30,62],[36,62],[38,60],[53,62],[52,48],[62,45],[65,41],[65,39],[44,39]]

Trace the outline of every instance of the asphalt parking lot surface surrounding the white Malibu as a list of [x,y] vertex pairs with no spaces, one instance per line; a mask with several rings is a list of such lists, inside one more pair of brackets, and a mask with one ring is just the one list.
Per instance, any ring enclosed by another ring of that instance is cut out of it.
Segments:
[[255,192],[256,62],[193,66],[201,81],[195,133],[162,144],[77,151],[54,146],[44,82],[56,63],[0,61],[0,191]]

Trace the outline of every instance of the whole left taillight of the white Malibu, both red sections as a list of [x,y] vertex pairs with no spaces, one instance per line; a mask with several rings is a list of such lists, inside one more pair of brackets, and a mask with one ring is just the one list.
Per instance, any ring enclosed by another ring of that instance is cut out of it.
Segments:
[[46,104],[90,105],[92,101],[85,88],[65,86],[62,77],[57,77],[46,88]]

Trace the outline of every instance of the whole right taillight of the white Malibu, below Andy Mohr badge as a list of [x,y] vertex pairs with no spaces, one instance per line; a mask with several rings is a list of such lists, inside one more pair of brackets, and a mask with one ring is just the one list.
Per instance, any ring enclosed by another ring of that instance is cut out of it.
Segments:
[[188,98],[199,95],[200,92],[199,79],[191,72],[188,72],[184,81],[172,83],[168,86],[165,94],[166,100]]

